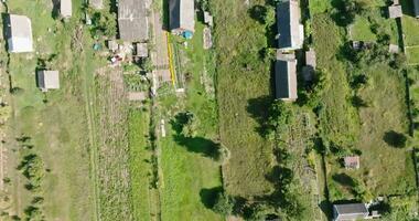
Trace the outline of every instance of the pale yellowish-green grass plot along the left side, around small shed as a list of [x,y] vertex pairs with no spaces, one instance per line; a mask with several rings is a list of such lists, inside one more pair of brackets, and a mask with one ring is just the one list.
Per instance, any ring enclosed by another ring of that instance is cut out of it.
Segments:
[[[73,1],[80,6],[80,1]],[[32,20],[34,48],[37,54],[12,54],[9,71],[13,87],[22,93],[13,95],[11,104],[13,117],[10,120],[10,147],[15,148],[14,138],[23,135],[32,137],[33,151],[43,159],[50,172],[42,185],[44,200],[43,212],[46,220],[90,220],[94,219],[93,192],[89,179],[89,140],[85,97],[82,80],[84,62],[73,63],[71,49],[76,17],[63,24],[51,17],[52,2],[12,1],[8,2],[12,13],[26,14]],[[24,7],[23,7],[24,6]],[[78,8],[74,13],[78,15]],[[49,31],[51,29],[51,32]],[[61,90],[46,94],[40,92],[35,84],[37,59],[56,57],[50,69],[61,72]],[[82,70],[82,71],[80,71]],[[46,101],[46,102],[44,102]],[[29,206],[30,192],[23,185],[24,178],[14,168],[25,150],[17,151],[14,164],[10,164],[12,176],[14,212],[22,215]]]

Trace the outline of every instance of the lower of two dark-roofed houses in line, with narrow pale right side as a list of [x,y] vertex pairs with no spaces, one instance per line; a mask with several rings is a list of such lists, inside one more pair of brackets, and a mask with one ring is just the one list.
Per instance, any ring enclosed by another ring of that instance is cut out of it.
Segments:
[[297,60],[282,59],[275,63],[275,98],[286,102],[297,99]]

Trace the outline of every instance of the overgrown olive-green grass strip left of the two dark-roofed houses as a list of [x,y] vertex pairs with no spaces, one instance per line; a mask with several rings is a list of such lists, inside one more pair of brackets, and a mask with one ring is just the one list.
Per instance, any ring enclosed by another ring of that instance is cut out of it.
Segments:
[[[251,2],[264,4],[264,1]],[[211,2],[217,23],[217,102],[222,145],[229,150],[223,167],[225,188],[233,196],[271,191],[265,175],[272,166],[272,144],[259,134],[270,97],[270,63],[259,57],[267,44],[265,28],[235,0]],[[230,9],[230,10],[225,10]],[[227,22],[228,21],[228,22]]]

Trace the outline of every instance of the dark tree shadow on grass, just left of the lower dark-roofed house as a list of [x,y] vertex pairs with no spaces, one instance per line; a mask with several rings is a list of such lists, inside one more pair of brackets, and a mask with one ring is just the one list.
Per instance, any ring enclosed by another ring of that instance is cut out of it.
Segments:
[[268,109],[271,103],[272,103],[272,98],[270,96],[250,98],[247,102],[246,110],[258,123],[258,126],[255,128],[255,130],[261,137],[266,137],[268,133],[268,128],[267,128],[267,122],[269,117]]

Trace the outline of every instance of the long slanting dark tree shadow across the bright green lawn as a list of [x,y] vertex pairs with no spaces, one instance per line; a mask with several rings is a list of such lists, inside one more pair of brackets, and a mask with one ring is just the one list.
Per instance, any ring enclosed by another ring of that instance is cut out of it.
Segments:
[[185,137],[178,134],[174,135],[174,141],[184,146],[187,151],[197,152],[214,160],[218,160],[221,157],[221,145],[211,139],[203,137]]

